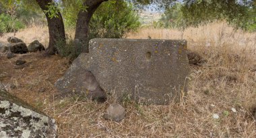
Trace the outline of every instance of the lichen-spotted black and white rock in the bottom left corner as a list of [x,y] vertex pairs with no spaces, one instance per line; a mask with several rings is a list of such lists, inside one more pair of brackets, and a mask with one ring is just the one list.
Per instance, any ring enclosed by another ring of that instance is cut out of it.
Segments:
[[0,83],[0,137],[57,137],[55,119],[12,96]]

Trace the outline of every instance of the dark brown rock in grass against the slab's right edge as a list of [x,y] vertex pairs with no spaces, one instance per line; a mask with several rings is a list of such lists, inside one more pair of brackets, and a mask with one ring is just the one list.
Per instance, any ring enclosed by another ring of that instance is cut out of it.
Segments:
[[187,57],[189,59],[189,64],[201,66],[206,63],[207,60],[203,59],[199,53],[188,50]]

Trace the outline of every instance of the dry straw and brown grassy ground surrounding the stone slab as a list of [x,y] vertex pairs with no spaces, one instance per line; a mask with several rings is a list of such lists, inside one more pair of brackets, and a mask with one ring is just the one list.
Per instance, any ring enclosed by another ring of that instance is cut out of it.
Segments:
[[[16,36],[34,30],[28,28]],[[3,37],[7,35],[11,34]],[[35,33],[33,37],[44,35]],[[0,57],[0,81],[15,84],[17,88],[9,92],[56,118],[59,137],[256,137],[255,33],[235,32],[221,23],[185,32],[144,28],[128,37],[185,38],[189,49],[207,60],[201,66],[191,65],[187,100],[168,106],[145,106],[128,100],[121,103],[127,111],[124,120],[104,120],[102,115],[115,99],[98,104],[75,97],[57,98],[53,84],[65,73],[68,60],[57,55],[42,57],[40,53],[9,60]],[[31,64],[13,69],[16,59]],[[38,92],[40,88],[45,92]]]

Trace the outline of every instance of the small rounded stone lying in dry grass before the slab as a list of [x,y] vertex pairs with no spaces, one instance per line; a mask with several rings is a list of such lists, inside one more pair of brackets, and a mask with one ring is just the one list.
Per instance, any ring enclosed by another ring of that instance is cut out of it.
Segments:
[[120,104],[110,104],[106,109],[106,114],[103,116],[106,120],[113,120],[119,122],[125,118],[125,108]]

